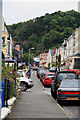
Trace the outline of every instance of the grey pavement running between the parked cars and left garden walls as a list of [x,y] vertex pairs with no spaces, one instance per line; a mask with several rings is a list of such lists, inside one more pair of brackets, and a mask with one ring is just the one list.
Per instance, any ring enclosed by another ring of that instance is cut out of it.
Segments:
[[44,92],[35,72],[32,72],[34,87],[22,92],[10,118],[67,118],[65,111]]

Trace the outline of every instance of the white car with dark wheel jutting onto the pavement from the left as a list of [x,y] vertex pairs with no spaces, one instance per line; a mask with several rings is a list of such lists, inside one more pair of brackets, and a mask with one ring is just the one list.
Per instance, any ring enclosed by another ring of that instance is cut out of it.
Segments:
[[22,91],[26,91],[27,89],[34,86],[33,81],[31,79],[28,79],[27,77],[20,77],[19,82],[20,86],[22,87]]

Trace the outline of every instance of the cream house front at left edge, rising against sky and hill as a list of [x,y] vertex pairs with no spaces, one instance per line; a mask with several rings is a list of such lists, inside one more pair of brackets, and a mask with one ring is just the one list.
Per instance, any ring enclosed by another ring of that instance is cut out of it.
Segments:
[[12,37],[8,33],[4,18],[2,18],[2,52],[5,62],[10,62],[12,60]]

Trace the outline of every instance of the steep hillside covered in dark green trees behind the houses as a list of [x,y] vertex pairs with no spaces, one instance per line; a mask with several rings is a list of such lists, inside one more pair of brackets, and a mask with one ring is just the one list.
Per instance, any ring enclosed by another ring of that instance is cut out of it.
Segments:
[[67,39],[80,26],[80,13],[70,10],[58,11],[33,20],[8,25],[13,41],[22,42],[24,52],[31,47],[35,53],[47,52]]

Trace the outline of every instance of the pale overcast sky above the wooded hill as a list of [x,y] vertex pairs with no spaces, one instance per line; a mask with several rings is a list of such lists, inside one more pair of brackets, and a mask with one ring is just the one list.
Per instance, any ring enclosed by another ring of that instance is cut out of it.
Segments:
[[24,22],[55,11],[78,11],[79,0],[3,0],[3,17],[7,25]]

